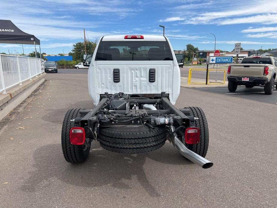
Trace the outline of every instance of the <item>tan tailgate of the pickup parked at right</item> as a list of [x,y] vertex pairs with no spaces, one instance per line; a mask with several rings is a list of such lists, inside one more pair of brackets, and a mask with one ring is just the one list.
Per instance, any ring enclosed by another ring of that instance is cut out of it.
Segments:
[[265,64],[231,64],[231,76],[263,77]]

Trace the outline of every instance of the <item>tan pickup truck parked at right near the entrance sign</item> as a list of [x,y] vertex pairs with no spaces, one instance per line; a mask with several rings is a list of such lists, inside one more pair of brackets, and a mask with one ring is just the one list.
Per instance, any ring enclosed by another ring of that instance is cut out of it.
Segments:
[[234,92],[238,85],[246,88],[264,87],[264,94],[271,95],[274,85],[277,90],[277,59],[272,56],[247,56],[240,64],[228,67],[228,90]]

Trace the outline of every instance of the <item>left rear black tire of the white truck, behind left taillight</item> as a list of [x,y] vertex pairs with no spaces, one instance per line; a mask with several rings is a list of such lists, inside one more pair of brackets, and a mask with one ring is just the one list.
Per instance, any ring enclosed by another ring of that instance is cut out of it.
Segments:
[[[63,120],[61,135],[63,156],[67,162],[71,163],[84,162],[90,153],[90,147],[84,147],[83,145],[72,145],[69,141],[69,130],[75,126],[74,122],[70,120],[73,120],[76,117],[81,117],[81,114],[79,113],[80,110],[81,108],[73,108],[68,110]],[[88,142],[91,144],[90,139]]]

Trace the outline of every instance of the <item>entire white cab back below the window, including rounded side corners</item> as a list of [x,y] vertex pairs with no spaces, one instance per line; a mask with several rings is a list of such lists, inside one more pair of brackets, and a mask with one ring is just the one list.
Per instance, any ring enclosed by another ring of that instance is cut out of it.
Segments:
[[[101,62],[98,61],[95,66],[91,65],[88,73],[89,93],[95,105],[99,103],[100,94],[105,92],[109,94],[166,92],[169,94],[170,101],[175,104],[180,92],[180,70],[177,64],[173,67],[173,61],[164,61],[163,65],[161,61],[152,61],[152,64],[149,64],[149,61],[146,61],[147,64],[131,64],[133,61],[121,64]],[[118,83],[113,82],[113,69],[119,69]],[[155,69],[155,82],[149,82],[149,69]]]

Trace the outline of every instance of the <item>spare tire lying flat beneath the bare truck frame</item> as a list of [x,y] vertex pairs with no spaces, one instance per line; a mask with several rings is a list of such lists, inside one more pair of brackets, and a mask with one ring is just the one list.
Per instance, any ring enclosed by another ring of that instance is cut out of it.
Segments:
[[166,141],[165,126],[117,126],[99,131],[100,145],[112,152],[144,153],[157,150]]

